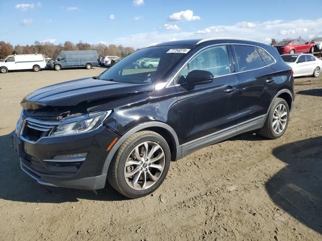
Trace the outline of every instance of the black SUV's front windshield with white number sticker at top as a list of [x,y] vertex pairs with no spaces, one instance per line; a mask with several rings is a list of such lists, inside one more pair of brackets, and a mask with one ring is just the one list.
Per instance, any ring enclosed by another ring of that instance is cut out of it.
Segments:
[[189,46],[159,46],[140,49],[99,76],[102,80],[126,83],[160,81],[191,50]]

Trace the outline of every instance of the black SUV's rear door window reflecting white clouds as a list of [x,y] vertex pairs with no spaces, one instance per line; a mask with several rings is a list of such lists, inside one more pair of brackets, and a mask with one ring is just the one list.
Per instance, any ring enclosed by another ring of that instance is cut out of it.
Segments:
[[239,71],[258,69],[264,66],[256,48],[246,45],[234,45]]

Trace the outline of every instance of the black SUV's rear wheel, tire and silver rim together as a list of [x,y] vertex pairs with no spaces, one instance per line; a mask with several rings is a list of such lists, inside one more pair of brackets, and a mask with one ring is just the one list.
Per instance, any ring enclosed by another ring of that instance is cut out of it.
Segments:
[[288,126],[289,112],[290,110],[285,99],[274,99],[265,124],[259,134],[269,139],[277,139],[283,136]]

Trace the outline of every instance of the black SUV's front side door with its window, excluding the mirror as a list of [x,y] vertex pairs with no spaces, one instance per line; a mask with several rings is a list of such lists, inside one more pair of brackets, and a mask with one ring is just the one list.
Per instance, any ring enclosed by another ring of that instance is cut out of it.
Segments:
[[[209,47],[175,78],[184,155],[210,144],[216,135],[235,134],[238,91],[230,52],[229,45]],[[185,77],[193,70],[207,70],[215,77],[211,83],[191,87]]]

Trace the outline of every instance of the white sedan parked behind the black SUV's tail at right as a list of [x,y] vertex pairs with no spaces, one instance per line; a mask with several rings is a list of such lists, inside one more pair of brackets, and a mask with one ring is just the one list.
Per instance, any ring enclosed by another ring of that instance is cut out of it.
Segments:
[[310,54],[283,54],[281,57],[292,67],[294,77],[305,75],[317,77],[322,69],[322,60]]

